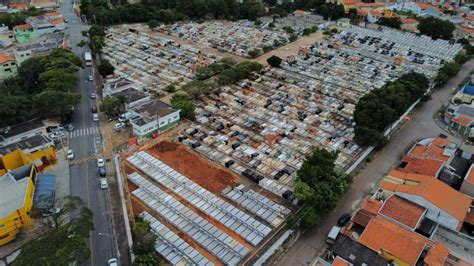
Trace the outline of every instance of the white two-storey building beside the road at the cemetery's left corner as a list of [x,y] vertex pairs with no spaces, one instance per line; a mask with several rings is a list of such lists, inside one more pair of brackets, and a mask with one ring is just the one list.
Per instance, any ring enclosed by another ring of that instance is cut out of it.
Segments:
[[133,134],[149,138],[179,123],[180,110],[176,110],[160,100],[151,100],[131,112],[136,118],[131,120]]

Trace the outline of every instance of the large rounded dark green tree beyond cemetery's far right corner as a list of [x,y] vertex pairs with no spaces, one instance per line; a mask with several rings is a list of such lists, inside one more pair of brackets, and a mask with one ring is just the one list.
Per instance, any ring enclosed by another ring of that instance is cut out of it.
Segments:
[[420,19],[418,30],[421,34],[430,36],[433,40],[450,40],[456,26],[449,20],[442,20],[432,16]]

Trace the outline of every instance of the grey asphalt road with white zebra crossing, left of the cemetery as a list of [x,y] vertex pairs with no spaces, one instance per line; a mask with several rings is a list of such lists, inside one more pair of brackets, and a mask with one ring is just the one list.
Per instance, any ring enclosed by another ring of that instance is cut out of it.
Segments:
[[[71,0],[65,0],[61,12],[68,20],[66,34],[71,40],[72,51],[79,57],[84,58],[84,53],[90,51],[89,47],[77,47],[77,43],[84,39],[81,31],[87,30],[88,26],[82,23],[73,13]],[[95,92],[95,86],[87,81],[89,75],[93,75],[93,67],[85,67],[78,71],[80,80],[76,92],[82,95],[81,103],[74,111],[74,132],[70,134],[70,147],[75,153],[75,160],[82,158],[93,158],[101,153],[101,139],[99,136],[99,123],[92,121],[91,107],[96,104],[95,99],[90,98],[91,92]],[[94,231],[90,239],[91,260],[87,265],[106,265],[109,258],[117,257],[114,230],[112,227],[112,216],[110,210],[110,197],[107,190],[99,187],[99,175],[94,159],[84,160],[82,163],[70,166],[70,193],[84,199],[94,213]]]

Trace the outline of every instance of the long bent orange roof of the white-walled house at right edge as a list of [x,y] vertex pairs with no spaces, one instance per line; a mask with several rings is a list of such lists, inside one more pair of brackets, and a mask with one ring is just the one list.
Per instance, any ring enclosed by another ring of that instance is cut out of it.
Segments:
[[[390,177],[398,179],[400,183],[390,180]],[[387,178],[381,182],[380,188],[420,196],[451,214],[461,223],[464,221],[472,201],[470,197],[436,178],[396,170],[388,174]]]

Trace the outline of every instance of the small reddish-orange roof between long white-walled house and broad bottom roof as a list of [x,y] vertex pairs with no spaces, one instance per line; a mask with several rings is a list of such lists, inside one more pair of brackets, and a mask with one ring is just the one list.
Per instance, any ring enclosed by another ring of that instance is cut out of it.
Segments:
[[426,209],[397,195],[388,198],[380,209],[380,214],[412,229],[416,229]]

